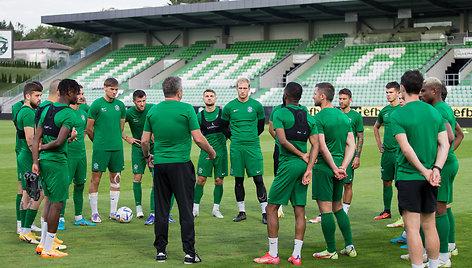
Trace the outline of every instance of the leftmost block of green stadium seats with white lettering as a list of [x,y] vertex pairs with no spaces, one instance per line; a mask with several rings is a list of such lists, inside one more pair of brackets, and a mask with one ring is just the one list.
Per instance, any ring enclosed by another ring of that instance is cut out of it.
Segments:
[[102,88],[103,81],[108,77],[115,77],[122,84],[176,48],[176,45],[149,47],[142,44],[125,45],[83,68],[70,78],[77,80],[87,89]]

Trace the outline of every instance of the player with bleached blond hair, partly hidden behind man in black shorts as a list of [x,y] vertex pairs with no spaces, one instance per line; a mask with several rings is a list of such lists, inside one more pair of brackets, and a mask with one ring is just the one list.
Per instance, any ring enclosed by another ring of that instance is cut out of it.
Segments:
[[[444,167],[441,170],[441,186],[438,188],[438,198],[436,205],[436,228],[439,236],[439,265],[448,267],[451,265],[451,260],[449,258],[449,237],[450,231],[455,228],[451,228],[451,222],[449,217],[454,217],[452,214],[452,209],[447,207],[448,204],[452,203],[453,200],[453,182],[454,178],[457,175],[459,170],[459,162],[457,161],[456,156],[454,155],[454,138],[455,138],[455,127],[456,127],[456,118],[451,107],[447,105],[442,99],[442,83],[439,79],[435,77],[427,78],[419,97],[424,102],[431,104],[441,116],[444,118],[447,136],[450,144],[450,149]],[[453,222],[453,221],[452,221]],[[451,247],[452,248],[452,247]],[[455,249],[452,248],[451,251]],[[457,249],[456,249],[457,251]]]

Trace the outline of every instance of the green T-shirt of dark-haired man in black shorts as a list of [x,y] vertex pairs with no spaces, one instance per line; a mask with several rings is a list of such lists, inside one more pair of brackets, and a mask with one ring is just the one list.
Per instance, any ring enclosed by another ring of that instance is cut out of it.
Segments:
[[[444,122],[441,114],[431,105],[413,101],[392,114],[392,135],[405,133],[423,166],[431,169],[438,150],[438,133],[446,130]],[[398,153],[397,161],[397,180],[425,180],[403,152]]]

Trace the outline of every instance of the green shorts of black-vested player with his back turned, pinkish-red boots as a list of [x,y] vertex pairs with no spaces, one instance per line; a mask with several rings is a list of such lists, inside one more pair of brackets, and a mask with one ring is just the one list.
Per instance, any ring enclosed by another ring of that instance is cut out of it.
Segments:
[[301,159],[281,161],[277,169],[277,176],[270,186],[269,204],[305,206],[308,185],[302,184],[306,163]]

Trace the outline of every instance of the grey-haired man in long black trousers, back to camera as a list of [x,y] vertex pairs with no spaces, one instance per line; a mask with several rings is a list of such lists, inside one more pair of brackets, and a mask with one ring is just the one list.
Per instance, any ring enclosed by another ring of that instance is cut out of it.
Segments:
[[[214,159],[216,153],[202,135],[193,107],[181,102],[182,80],[175,76],[167,77],[162,83],[162,89],[165,100],[148,112],[141,137],[144,158],[149,167],[154,167],[156,261],[165,262],[167,259],[170,200],[175,194],[180,212],[182,247],[186,254],[184,263],[198,263],[201,259],[195,251],[192,215],[195,187],[195,170],[190,161],[192,138],[200,149],[208,153],[209,159]],[[152,135],[155,155],[151,155],[149,150]]]

